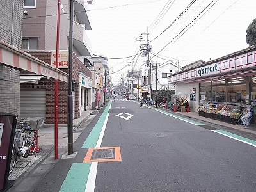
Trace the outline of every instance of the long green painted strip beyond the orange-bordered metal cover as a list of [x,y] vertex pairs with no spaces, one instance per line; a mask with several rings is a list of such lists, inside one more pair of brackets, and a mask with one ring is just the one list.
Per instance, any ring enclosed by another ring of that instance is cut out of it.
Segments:
[[86,138],[86,140],[84,141],[84,144],[81,148],[94,148],[96,146],[110,106],[111,101],[108,103],[108,106],[106,106],[105,110],[103,111],[97,123],[94,125],[92,131],[90,132],[88,138]]

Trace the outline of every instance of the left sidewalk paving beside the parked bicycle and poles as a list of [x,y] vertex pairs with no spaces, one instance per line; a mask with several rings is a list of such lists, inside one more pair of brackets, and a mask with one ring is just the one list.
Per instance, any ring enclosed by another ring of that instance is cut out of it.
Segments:
[[[93,115],[91,115],[91,113]],[[97,113],[99,113],[97,110],[84,111],[80,118],[73,120],[73,142],[76,141],[83,129],[86,129],[87,125],[90,124]],[[26,177],[28,177],[27,175],[29,170],[32,170],[38,166],[38,164],[45,162],[44,164],[49,164],[49,167],[51,167],[58,162],[58,160],[54,159],[54,133],[54,124],[44,124],[43,127],[38,131],[38,146],[40,148],[40,152],[36,153],[35,156],[33,155],[28,158],[21,157],[17,160],[15,168],[9,176],[10,180],[15,180],[15,185],[17,185],[18,182],[24,182],[23,180],[26,180]],[[67,152],[67,143],[67,124],[59,124],[58,159],[60,159],[61,156]],[[46,167],[47,166],[45,166],[45,168]],[[9,191],[13,191],[13,188],[10,188]]]

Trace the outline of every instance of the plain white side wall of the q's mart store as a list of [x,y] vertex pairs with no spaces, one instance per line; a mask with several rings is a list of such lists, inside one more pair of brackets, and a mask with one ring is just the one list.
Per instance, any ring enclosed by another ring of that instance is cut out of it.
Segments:
[[188,97],[189,97],[191,88],[196,88],[196,100],[190,100],[189,101],[190,111],[198,111],[198,106],[199,106],[199,83],[193,83],[193,84],[178,83],[178,84],[175,84],[175,93],[176,93],[176,95],[188,95]]

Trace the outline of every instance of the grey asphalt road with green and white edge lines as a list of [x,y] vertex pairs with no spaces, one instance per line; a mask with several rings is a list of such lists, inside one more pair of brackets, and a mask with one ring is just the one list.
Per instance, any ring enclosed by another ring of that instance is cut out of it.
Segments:
[[76,156],[31,170],[44,177],[29,191],[256,191],[255,147],[253,134],[118,95],[76,139]]

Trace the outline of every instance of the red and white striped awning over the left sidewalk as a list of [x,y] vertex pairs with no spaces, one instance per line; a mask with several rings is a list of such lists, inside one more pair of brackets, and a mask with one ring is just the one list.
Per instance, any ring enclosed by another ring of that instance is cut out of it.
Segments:
[[68,74],[58,68],[53,68],[27,52],[0,40],[0,63],[13,68],[19,68],[38,75],[52,77],[61,81],[68,81]]

